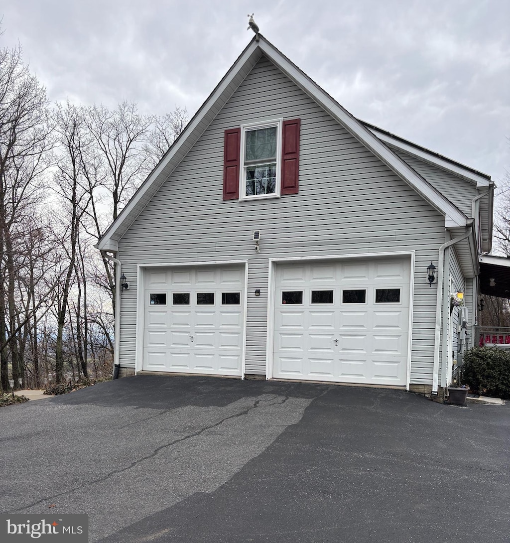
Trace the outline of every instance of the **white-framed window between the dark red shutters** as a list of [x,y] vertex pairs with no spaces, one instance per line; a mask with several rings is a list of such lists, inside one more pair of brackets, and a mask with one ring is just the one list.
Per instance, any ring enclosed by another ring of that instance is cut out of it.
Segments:
[[282,119],[241,125],[240,200],[280,197]]

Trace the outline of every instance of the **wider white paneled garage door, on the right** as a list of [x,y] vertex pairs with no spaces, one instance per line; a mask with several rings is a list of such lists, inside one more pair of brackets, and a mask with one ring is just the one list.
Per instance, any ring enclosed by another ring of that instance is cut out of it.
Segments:
[[273,376],[404,386],[410,260],[276,268]]

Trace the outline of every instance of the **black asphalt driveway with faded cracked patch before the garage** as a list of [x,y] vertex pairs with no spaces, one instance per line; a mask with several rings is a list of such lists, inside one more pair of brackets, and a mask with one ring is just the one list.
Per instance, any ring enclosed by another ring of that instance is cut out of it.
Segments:
[[0,510],[90,541],[508,542],[510,406],[137,376],[0,409]]

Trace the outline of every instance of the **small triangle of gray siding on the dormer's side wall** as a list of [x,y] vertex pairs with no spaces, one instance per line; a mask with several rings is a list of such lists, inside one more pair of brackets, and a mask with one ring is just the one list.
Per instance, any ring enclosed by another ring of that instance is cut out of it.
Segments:
[[438,166],[419,160],[399,149],[394,153],[408,163],[415,172],[418,172],[426,181],[436,188],[443,196],[456,205],[467,217],[471,217],[471,200],[476,196],[476,187],[473,183],[445,172]]

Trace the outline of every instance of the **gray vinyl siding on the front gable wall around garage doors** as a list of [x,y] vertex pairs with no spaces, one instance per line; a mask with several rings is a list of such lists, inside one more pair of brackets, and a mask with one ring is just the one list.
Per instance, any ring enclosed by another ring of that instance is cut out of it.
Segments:
[[[224,130],[277,117],[301,119],[299,194],[223,201]],[[131,281],[121,364],[135,364],[137,264],[248,258],[246,372],[265,374],[269,258],[415,251],[411,382],[430,384],[436,287],[426,267],[444,241],[444,217],[262,58],[119,241]]]

